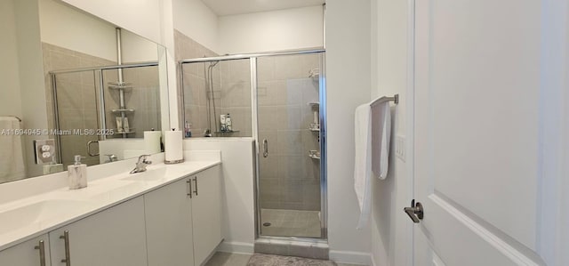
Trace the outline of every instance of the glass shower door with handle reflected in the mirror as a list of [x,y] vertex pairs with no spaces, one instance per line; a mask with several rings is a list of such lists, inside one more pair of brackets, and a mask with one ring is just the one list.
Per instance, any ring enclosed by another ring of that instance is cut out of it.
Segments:
[[[85,157],[82,160],[84,164],[98,165],[99,157],[87,155],[87,143],[99,141],[99,137],[84,132],[84,129],[100,128],[96,73],[88,70],[62,73],[54,77],[57,84],[55,93],[59,125],[51,128],[60,129],[60,133],[54,136],[59,141],[60,163],[73,165],[74,156],[81,155]],[[99,153],[96,145],[92,145],[92,153]]]

